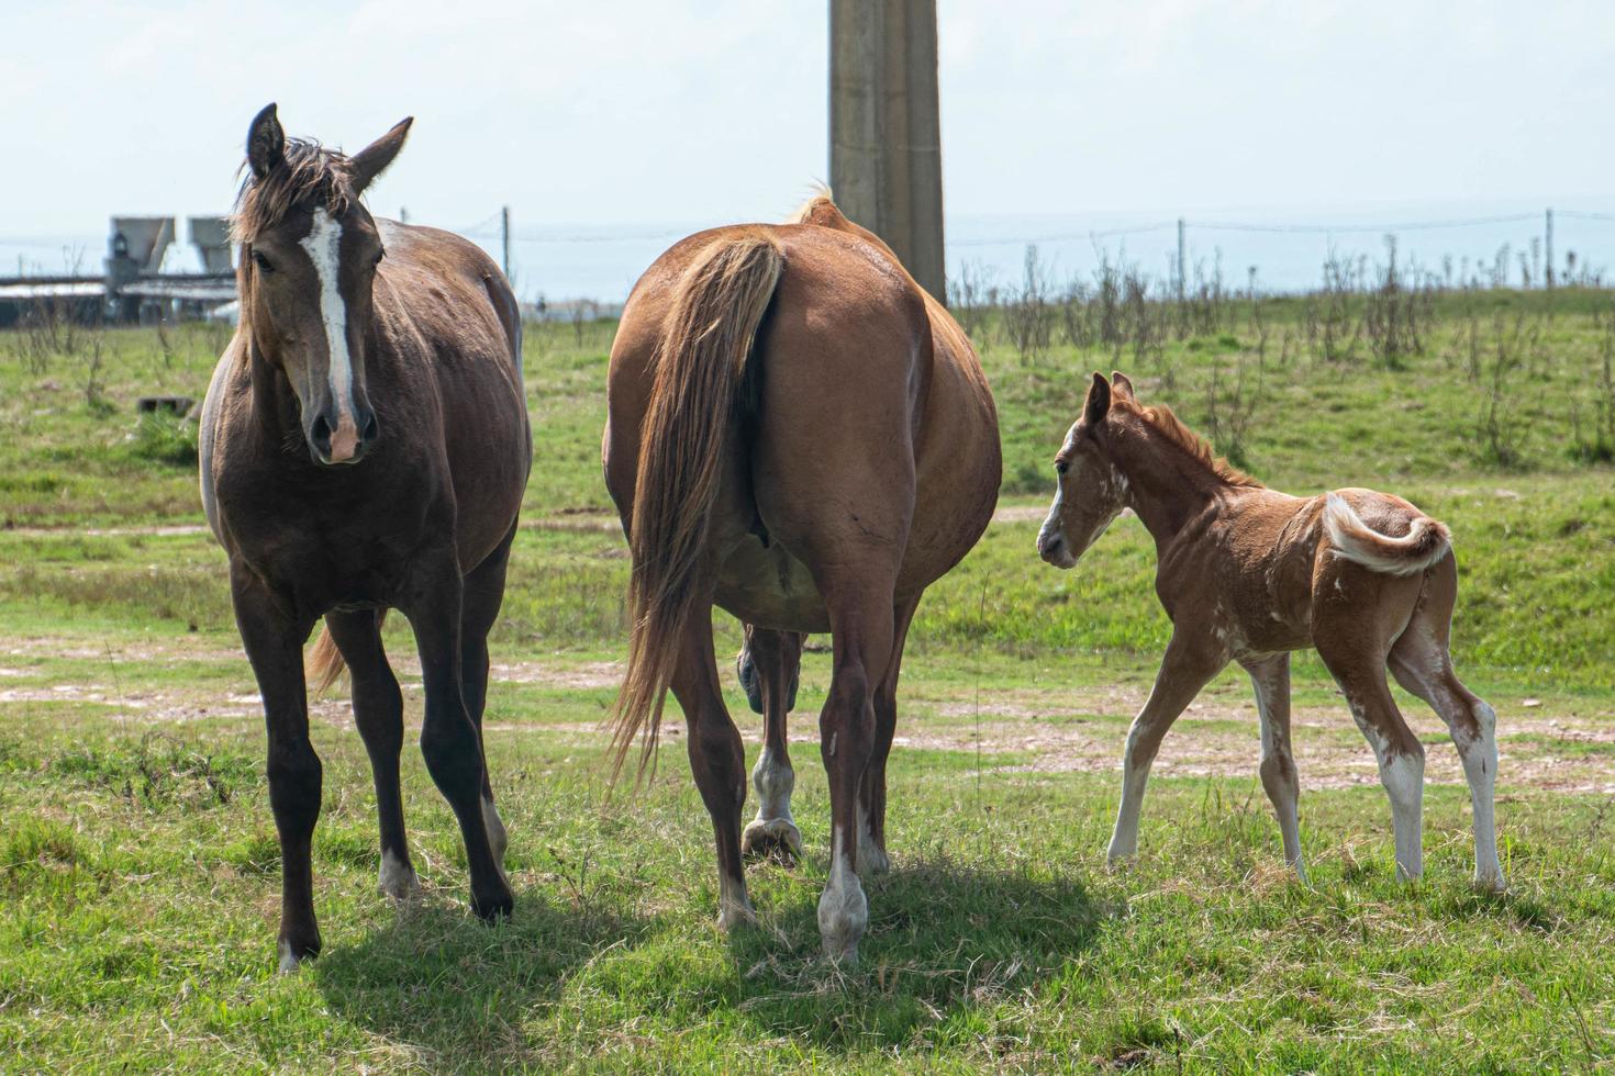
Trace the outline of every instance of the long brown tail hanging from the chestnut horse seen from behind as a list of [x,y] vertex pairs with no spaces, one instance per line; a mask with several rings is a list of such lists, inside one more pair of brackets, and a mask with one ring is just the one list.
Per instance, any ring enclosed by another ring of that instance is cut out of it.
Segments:
[[720,453],[741,397],[746,357],[785,252],[762,229],[717,239],[685,269],[656,348],[640,437],[628,552],[628,669],[612,710],[614,768],[636,736],[643,774],[656,753],[662,705],[696,605]]

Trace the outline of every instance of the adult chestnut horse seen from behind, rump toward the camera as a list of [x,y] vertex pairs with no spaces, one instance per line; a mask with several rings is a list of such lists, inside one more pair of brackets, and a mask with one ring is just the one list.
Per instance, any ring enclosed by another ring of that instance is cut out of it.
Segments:
[[[830,632],[819,931],[827,953],[856,960],[859,874],[887,863],[909,619],[998,500],[998,418],[975,352],[891,250],[820,197],[791,224],[690,236],[640,277],[612,345],[602,453],[633,558],[619,766],[641,731],[644,766],[672,687],[717,839],[719,923],[751,920],[746,757],[719,692],[711,610],[775,653],[764,673],[782,719],[785,634]],[[790,765],[772,766],[764,821],[790,840]]]

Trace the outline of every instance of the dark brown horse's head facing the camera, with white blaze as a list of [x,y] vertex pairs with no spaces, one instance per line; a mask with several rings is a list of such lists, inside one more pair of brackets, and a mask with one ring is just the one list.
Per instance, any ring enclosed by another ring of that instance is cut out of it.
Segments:
[[302,413],[317,463],[359,463],[380,434],[365,392],[371,286],[383,248],[359,202],[404,147],[410,121],[352,156],[287,139],[270,105],[247,132],[236,202],[241,318]]

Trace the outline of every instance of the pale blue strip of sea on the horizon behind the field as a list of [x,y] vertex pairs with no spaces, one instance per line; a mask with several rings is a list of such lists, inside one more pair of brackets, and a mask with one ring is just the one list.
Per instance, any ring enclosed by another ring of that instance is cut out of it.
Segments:
[[[1615,197],[1581,195],[1324,210],[959,213],[945,221],[946,268],[950,281],[969,274],[984,287],[1017,289],[1024,281],[1027,247],[1037,247],[1040,273],[1055,290],[1074,281],[1092,284],[1101,261],[1130,266],[1164,286],[1174,279],[1177,219],[1184,218],[1190,284],[1219,273],[1227,289],[1245,290],[1253,282],[1261,292],[1307,290],[1321,284],[1324,261],[1331,256],[1386,265],[1386,236],[1392,234],[1402,269],[1450,276],[1454,282],[1468,276],[1489,282],[1499,252],[1507,247],[1507,282],[1521,286],[1529,273],[1529,282],[1539,286],[1549,206],[1554,208],[1554,265],[1560,276],[1571,252],[1578,268],[1615,266]],[[673,240],[719,223],[724,221],[518,226],[510,242],[514,284],[523,302],[615,305]],[[499,232],[486,219],[451,231],[478,242],[496,261],[501,258]],[[97,274],[105,248],[105,234],[94,231],[0,237],[0,276]],[[1521,253],[1526,271],[1520,265]],[[163,271],[200,271],[184,224]]]

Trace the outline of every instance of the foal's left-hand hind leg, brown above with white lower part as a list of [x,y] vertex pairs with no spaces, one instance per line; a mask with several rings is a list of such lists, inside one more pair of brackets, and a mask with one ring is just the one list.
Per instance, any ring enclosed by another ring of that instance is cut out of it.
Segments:
[[1379,761],[1379,784],[1391,800],[1397,840],[1397,878],[1413,881],[1424,873],[1424,745],[1402,719],[1386,684],[1386,658],[1361,634],[1329,632],[1318,637],[1318,657],[1345,694],[1352,718]]

